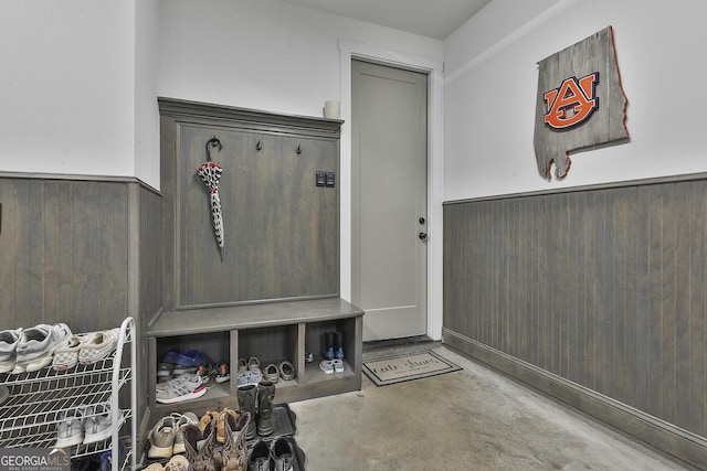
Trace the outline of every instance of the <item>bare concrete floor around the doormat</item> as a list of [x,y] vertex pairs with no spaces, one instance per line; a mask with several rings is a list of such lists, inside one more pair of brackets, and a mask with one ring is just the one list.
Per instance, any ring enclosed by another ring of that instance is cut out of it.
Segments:
[[289,405],[307,471],[690,469],[440,343],[412,350],[430,346],[464,370]]

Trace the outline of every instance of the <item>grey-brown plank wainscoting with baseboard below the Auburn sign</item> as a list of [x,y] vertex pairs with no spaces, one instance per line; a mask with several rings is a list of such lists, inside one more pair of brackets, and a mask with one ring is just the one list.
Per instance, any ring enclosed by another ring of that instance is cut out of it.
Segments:
[[443,339],[707,468],[707,180],[445,203]]

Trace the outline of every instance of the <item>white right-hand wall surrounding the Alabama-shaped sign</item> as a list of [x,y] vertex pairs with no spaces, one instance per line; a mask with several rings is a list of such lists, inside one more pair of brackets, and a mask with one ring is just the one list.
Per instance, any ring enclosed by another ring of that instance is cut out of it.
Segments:
[[[445,200],[707,171],[707,4],[690,0],[493,0],[444,43]],[[537,171],[537,63],[612,25],[631,142]]]

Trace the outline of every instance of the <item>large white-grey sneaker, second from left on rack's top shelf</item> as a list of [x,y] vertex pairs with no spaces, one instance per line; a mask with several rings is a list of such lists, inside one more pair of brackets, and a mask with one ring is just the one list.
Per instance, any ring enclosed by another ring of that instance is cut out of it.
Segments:
[[12,373],[36,372],[49,365],[54,351],[68,344],[71,336],[71,329],[64,323],[39,324],[22,331]]

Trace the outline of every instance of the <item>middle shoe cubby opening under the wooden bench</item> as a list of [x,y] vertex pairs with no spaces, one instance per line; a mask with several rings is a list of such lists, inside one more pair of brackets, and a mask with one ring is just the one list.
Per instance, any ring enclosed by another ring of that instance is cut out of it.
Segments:
[[[244,360],[246,365],[250,358],[257,358],[260,370],[265,374],[265,368],[273,364],[278,368],[283,362],[292,363],[295,368],[295,377],[289,381],[278,376],[276,388],[292,386],[297,382],[298,361],[297,324],[278,325],[239,331],[238,358]],[[238,365],[231,366],[234,377],[238,376]]]

